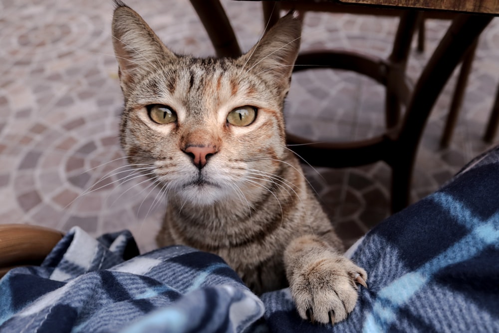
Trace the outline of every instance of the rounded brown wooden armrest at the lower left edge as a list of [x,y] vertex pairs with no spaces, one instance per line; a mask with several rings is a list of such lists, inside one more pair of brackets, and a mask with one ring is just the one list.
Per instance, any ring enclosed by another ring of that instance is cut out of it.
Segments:
[[39,265],[63,236],[44,227],[0,225],[0,277],[13,267]]

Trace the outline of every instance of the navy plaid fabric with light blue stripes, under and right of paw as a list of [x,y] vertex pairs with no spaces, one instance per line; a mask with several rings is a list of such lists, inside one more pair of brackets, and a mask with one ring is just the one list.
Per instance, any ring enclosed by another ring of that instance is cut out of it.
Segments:
[[352,256],[369,289],[334,327],[264,294],[271,332],[499,332],[499,148],[369,232]]

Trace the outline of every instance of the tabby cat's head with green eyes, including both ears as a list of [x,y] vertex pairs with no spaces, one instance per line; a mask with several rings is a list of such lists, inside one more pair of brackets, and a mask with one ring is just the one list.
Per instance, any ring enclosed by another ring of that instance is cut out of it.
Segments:
[[239,58],[170,51],[122,3],[112,23],[125,107],[121,144],[130,164],[194,204],[252,201],[285,167],[284,97],[301,19],[281,18]]

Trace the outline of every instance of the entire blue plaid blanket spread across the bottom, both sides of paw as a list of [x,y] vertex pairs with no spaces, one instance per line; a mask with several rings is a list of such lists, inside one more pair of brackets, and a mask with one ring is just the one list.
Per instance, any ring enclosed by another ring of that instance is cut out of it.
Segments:
[[499,332],[498,193],[494,149],[369,232],[352,254],[369,289],[334,327],[302,321],[286,289],[256,297],[215,255],[73,228],[0,280],[0,332]]

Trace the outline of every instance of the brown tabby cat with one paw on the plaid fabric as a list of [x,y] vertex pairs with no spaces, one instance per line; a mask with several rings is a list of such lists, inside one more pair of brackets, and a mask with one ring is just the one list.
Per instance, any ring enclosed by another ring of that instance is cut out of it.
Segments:
[[240,57],[195,58],[169,50],[138,13],[115,3],[120,140],[129,163],[149,166],[166,193],[158,246],[217,254],[256,294],[289,286],[305,320],[344,320],[367,274],[342,255],[285,144],[299,13]]

